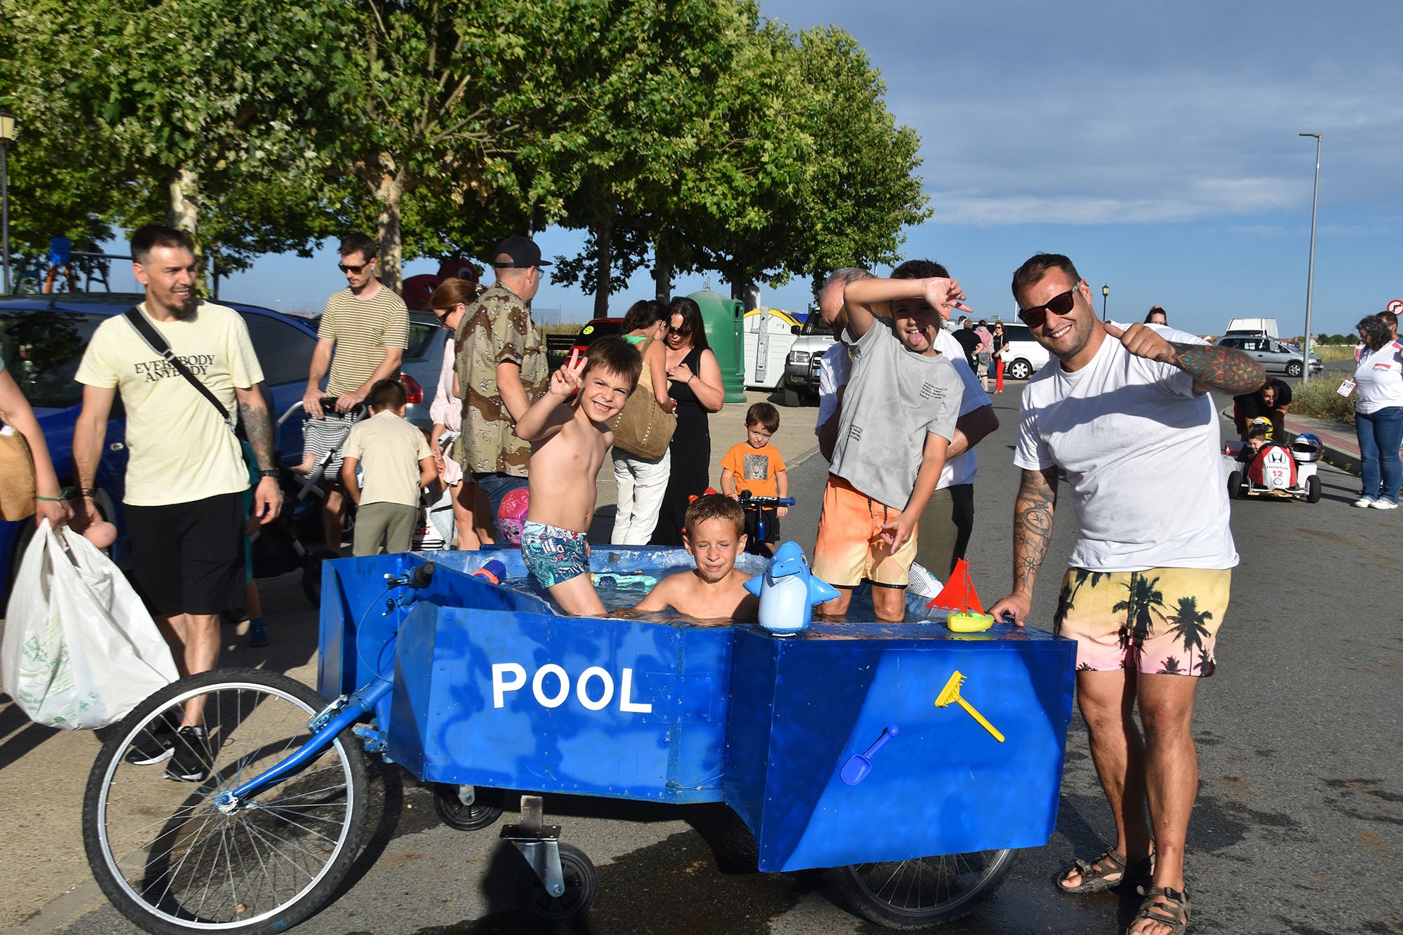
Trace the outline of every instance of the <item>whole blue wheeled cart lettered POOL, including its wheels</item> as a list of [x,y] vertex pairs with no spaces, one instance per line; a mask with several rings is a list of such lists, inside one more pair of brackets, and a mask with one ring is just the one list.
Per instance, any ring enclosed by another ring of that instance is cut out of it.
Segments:
[[[463,830],[497,821],[499,790],[535,793],[502,838],[525,858],[518,898],[543,922],[588,910],[595,872],[542,823],[540,793],[724,802],[755,835],[760,870],[832,868],[854,911],[894,928],[965,914],[1013,849],[1052,833],[1068,640],[1009,625],[953,633],[936,619],[779,636],[563,618],[473,576],[488,559],[525,574],[509,550],[328,562],[320,694],[220,670],[133,710],[83,807],[88,862],[114,906],[152,932],[306,920],[362,844],[366,752],[436,783],[441,817]],[[592,556],[596,573],[689,563],[680,549]],[[192,698],[203,698],[209,778],[133,762]]]

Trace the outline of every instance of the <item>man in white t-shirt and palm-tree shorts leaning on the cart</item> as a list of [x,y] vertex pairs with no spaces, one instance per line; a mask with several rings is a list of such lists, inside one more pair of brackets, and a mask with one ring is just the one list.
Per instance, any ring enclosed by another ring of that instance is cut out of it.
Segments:
[[991,612],[1020,625],[1028,615],[1065,470],[1078,538],[1054,629],[1078,642],[1078,701],[1117,842],[1078,861],[1056,886],[1093,893],[1143,883],[1153,847],[1153,884],[1128,932],[1162,935],[1170,928],[1162,918],[1188,913],[1194,691],[1197,677],[1214,672],[1237,564],[1208,389],[1250,392],[1266,373],[1240,351],[1172,329],[1097,320],[1090,286],[1061,254],[1024,263],[1013,296],[1052,358],[1023,390],[1013,594]]

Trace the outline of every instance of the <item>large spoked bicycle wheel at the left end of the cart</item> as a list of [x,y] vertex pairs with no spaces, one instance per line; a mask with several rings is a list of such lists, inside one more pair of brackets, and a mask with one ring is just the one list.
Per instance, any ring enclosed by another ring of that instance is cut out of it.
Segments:
[[[209,771],[199,783],[178,782],[163,769],[175,760],[161,755],[160,737],[201,695]],[[300,747],[324,706],[302,682],[248,668],[182,678],[128,715],[83,797],[83,847],[112,906],[159,934],[282,932],[320,910],[365,831],[359,741],[344,733],[237,810],[222,811],[217,796]]]

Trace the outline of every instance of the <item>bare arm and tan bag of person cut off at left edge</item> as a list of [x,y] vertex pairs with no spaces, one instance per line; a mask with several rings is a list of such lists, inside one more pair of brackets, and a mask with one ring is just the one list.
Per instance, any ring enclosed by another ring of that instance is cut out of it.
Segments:
[[67,522],[73,511],[59,487],[39,420],[3,359],[0,421],[4,421],[0,428],[0,515],[6,519],[34,517],[35,525],[43,519],[51,526]]

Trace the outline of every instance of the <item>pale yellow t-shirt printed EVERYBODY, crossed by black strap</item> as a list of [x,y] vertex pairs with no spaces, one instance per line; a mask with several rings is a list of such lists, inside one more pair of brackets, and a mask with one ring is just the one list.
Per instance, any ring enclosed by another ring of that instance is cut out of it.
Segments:
[[[146,313],[145,302],[137,307]],[[201,302],[195,314],[181,321],[147,320],[229,413],[237,411],[236,387],[262,382],[248,326],[233,309]],[[122,396],[128,451],[123,503],[164,507],[248,489],[234,432],[125,316],[97,326],[74,379],[116,387]]]

